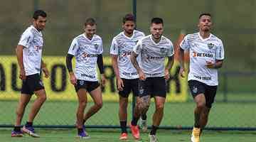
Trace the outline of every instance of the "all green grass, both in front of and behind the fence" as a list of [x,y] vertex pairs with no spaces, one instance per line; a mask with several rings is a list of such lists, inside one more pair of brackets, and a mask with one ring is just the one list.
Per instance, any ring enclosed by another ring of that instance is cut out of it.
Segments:
[[[221,98],[221,95],[218,96]],[[217,97],[217,99],[218,99]],[[235,100],[244,98],[242,94],[231,96]],[[250,95],[252,100],[254,95]],[[0,125],[12,125],[15,119],[15,109],[17,101],[0,102]],[[23,118],[23,124],[28,116],[28,111],[31,107],[28,104],[26,114]],[[131,119],[131,104],[128,107],[128,121]],[[74,125],[75,111],[77,102],[53,102],[47,101],[43,105],[40,113],[34,121],[35,125]],[[90,102],[87,106],[90,107]],[[166,103],[164,109],[164,119],[161,126],[174,126],[181,128],[183,126],[193,126],[193,109],[195,104],[191,101],[186,103]],[[151,108],[148,111],[148,124],[151,125],[151,114],[154,113],[154,102],[151,103]],[[256,127],[256,111],[255,103],[241,102],[216,102],[210,112],[209,127],[230,127],[230,128],[255,128]],[[119,126],[118,119],[118,103],[105,102],[99,113],[92,116],[86,125],[103,125],[103,126]],[[119,129],[87,129],[92,138],[88,140],[80,140],[75,138],[75,129],[38,129],[36,131],[41,135],[41,138],[31,138],[25,136],[23,138],[11,138],[11,128],[0,129],[0,142],[9,141],[119,141]],[[189,141],[191,131],[181,130],[159,130],[159,141]],[[204,131],[202,141],[215,142],[250,142],[255,141],[256,131]],[[148,141],[148,133],[142,133],[141,141]],[[129,134],[129,141],[134,141]]]

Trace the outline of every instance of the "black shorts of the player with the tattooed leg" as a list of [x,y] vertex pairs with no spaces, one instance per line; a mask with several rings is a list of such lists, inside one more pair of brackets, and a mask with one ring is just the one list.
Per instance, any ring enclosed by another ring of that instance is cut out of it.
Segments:
[[139,97],[166,97],[166,80],[164,77],[147,77],[139,80]]

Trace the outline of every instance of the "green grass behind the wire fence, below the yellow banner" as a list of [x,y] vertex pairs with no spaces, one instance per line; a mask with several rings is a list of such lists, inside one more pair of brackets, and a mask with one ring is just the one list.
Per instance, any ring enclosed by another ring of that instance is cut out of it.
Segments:
[[[28,104],[23,118],[25,123],[32,103]],[[14,124],[16,101],[1,101],[0,125]],[[92,103],[89,103],[87,108]],[[46,102],[39,112],[35,125],[74,125],[77,102]],[[105,102],[102,109],[87,121],[87,125],[119,126],[118,103]],[[164,119],[161,126],[193,126],[193,102],[166,103]],[[131,104],[128,108],[128,121],[131,119]],[[151,124],[151,114],[154,113],[154,102],[148,111],[148,121]],[[255,103],[224,103],[216,102],[210,111],[208,126],[214,127],[256,127]]]

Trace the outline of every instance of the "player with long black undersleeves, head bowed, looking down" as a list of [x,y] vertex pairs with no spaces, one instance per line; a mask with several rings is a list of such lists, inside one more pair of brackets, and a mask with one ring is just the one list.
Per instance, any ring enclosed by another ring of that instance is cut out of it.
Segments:
[[[102,91],[97,79],[97,65],[100,70],[101,84],[105,85],[105,76],[102,59],[102,38],[96,35],[96,22],[94,18],[85,21],[85,33],[73,39],[66,65],[70,75],[70,82],[75,86],[78,95],[77,127],[78,137],[90,138],[85,131],[85,121],[102,108]],[[72,58],[75,56],[75,73],[72,68]],[[87,92],[90,93],[94,105],[90,107],[84,116],[87,104]]]

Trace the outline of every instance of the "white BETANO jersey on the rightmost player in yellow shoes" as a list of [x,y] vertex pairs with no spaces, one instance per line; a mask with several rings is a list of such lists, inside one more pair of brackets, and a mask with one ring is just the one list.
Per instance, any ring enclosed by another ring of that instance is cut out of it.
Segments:
[[183,50],[189,50],[188,80],[197,80],[210,86],[218,85],[218,70],[206,67],[206,61],[224,59],[222,41],[213,34],[203,39],[200,33],[193,33],[186,35],[180,46]]

